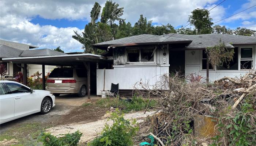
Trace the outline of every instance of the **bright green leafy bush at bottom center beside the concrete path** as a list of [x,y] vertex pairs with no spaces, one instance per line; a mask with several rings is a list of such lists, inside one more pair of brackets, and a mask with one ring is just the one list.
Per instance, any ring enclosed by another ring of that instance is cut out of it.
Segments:
[[88,146],[132,146],[132,137],[139,130],[136,120],[125,120],[124,114],[118,109],[111,113],[109,120],[113,121],[113,125],[106,123],[101,135],[88,143]]

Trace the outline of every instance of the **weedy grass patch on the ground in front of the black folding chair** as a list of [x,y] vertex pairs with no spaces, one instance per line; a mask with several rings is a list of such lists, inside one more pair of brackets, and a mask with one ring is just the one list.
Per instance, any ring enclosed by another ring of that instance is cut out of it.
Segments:
[[[123,112],[141,111],[146,109],[149,99],[144,99],[140,96],[133,96],[132,101],[120,100],[119,98],[103,98],[97,100],[95,103],[84,103],[83,106],[96,106],[100,108],[119,108]],[[148,108],[154,106],[156,101],[151,100]]]

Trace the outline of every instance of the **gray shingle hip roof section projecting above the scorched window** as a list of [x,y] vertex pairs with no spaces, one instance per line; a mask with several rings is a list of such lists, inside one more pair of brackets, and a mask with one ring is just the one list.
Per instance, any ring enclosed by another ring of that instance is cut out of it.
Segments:
[[109,46],[109,45],[117,45],[117,44],[130,44],[130,43],[161,43],[161,42],[189,42],[189,39],[182,39],[182,38],[173,38],[173,37],[163,37],[159,35],[150,35],[150,34],[141,34],[135,35],[131,37],[115,39],[112,41],[102,42],[94,44],[93,46]]

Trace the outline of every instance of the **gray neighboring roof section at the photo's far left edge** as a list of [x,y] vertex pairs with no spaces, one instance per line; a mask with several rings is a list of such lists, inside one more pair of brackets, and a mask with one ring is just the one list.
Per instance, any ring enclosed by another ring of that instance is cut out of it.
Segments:
[[23,52],[23,50],[19,50],[13,47],[0,45],[0,57],[1,58],[11,58],[11,57],[19,57],[19,55]]

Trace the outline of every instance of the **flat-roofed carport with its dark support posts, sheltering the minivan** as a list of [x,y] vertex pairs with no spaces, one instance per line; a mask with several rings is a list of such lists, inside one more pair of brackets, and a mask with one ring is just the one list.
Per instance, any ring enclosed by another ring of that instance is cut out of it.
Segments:
[[23,84],[26,85],[27,78],[27,64],[42,65],[42,83],[43,89],[45,90],[45,65],[54,66],[84,66],[87,70],[87,93],[88,99],[90,99],[91,93],[91,82],[90,82],[90,70],[91,63],[97,63],[97,69],[99,63],[110,63],[113,62],[113,57],[104,57],[102,55],[95,54],[70,54],[70,55],[52,55],[52,56],[33,56],[33,57],[17,57],[17,58],[3,58],[3,62],[11,62],[15,64],[24,64],[23,69]]

